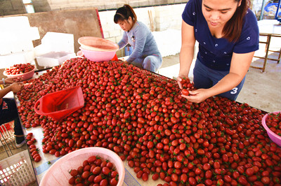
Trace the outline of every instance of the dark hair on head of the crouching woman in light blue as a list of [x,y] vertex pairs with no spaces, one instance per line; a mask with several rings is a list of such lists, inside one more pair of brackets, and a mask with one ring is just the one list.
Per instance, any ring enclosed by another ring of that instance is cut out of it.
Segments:
[[128,20],[129,17],[133,20],[133,24],[136,23],[136,13],[133,11],[133,8],[129,4],[124,4],[124,6],[118,8],[115,13],[114,22],[117,24],[119,21]]

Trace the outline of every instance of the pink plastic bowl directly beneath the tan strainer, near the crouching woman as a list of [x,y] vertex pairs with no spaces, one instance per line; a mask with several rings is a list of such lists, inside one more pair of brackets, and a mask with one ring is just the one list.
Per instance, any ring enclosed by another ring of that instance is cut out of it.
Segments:
[[94,51],[94,50],[85,50],[80,47],[80,50],[83,52],[85,57],[93,62],[108,62],[110,59],[115,57],[116,51]]

